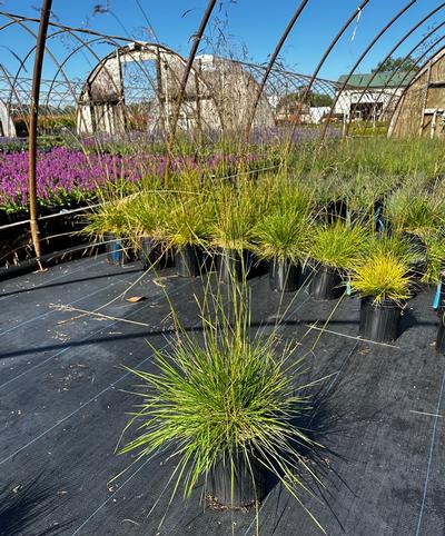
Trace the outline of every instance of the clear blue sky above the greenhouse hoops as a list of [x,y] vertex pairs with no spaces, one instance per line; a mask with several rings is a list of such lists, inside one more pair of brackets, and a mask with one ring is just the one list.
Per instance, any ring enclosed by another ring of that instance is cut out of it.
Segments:
[[[103,6],[106,0],[53,0],[55,20],[75,27],[87,26],[106,33],[154,40],[147,30],[148,24],[138,2],[155,29],[157,39],[187,56],[190,36],[196,31],[207,4],[205,0],[110,0],[111,12],[93,17],[93,7]],[[30,17],[37,17],[40,7],[40,0],[4,0],[1,3],[4,11]],[[281,60],[285,64],[298,72],[310,75],[325,48],[358,3],[358,0],[309,0],[283,49]],[[406,3],[407,0],[370,0],[329,57],[322,76],[337,79],[342,73],[348,72],[366,44]],[[394,42],[439,3],[437,0],[417,0],[399,22],[378,41],[357,72],[367,72],[374,67]],[[215,10],[207,31],[208,41],[201,51],[215,51],[215,43],[221,31],[227,43],[218,49],[220,53],[230,51],[238,57],[247,57],[249,60],[264,63],[298,4],[299,0],[224,0],[221,9],[218,6]],[[400,53],[406,52],[433,24],[441,22],[444,14],[445,9],[417,30],[400,48]],[[32,46],[32,37],[13,27],[0,32],[0,46],[1,64],[13,71],[18,64],[14,54],[23,57]],[[67,39],[51,41],[51,50],[59,60],[72,48],[72,42]],[[110,50],[110,44],[101,44],[98,46],[97,53],[100,56]],[[82,77],[92,62],[91,57],[76,54],[67,63],[67,72],[70,77]],[[27,66],[30,73],[31,62]],[[49,59],[46,69],[48,73],[53,71]]]

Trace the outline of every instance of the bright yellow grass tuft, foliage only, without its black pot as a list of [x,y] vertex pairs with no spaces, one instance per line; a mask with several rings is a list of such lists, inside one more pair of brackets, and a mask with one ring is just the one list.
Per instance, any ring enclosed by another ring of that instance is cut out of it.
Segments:
[[402,304],[411,296],[412,278],[395,255],[377,252],[353,270],[350,285],[362,297],[374,297],[375,304],[383,299]]

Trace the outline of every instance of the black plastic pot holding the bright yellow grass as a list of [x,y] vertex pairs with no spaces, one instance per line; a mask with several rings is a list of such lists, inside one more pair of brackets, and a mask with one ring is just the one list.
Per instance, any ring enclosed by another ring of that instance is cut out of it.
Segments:
[[358,334],[376,343],[392,343],[398,336],[402,307],[393,299],[374,302],[374,297],[362,298]]

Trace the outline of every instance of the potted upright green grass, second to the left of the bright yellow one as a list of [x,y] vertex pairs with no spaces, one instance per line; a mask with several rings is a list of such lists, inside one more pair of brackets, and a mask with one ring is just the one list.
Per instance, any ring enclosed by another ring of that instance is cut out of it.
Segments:
[[256,252],[269,262],[273,290],[291,292],[298,288],[301,266],[312,238],[309,199],[295,186],[279,183],[267,211],[259,217]]

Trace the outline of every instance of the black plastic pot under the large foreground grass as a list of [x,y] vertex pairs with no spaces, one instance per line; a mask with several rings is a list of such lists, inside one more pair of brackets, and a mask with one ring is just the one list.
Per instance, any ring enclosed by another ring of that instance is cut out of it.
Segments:
[[274,478],[259,460],[243,455],[234,457],[234,475],[230,461],[219,460],[209,473],[208,493],[219,505],[240,508],[263,500],[269,493]]

